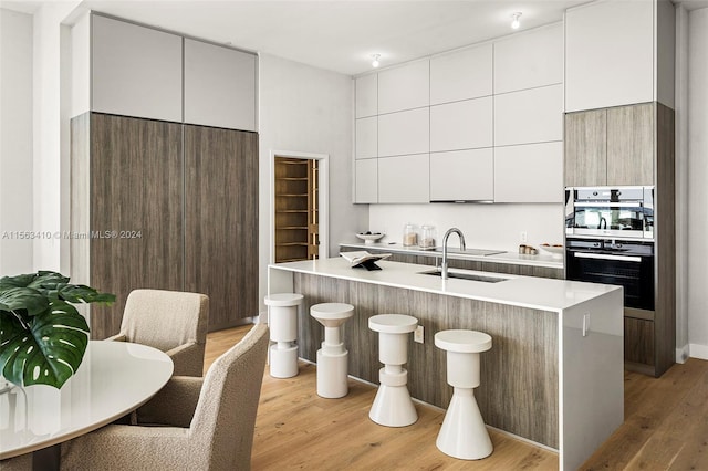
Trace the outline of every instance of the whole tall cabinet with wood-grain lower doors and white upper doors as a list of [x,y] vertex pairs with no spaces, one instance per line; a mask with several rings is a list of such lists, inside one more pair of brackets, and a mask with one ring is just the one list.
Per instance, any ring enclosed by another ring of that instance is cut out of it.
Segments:
[[143,287],[207,294],[210,331],[258,315],[257,56],[96,13],[72,35],[71,276],[117,296],[92,337]]

